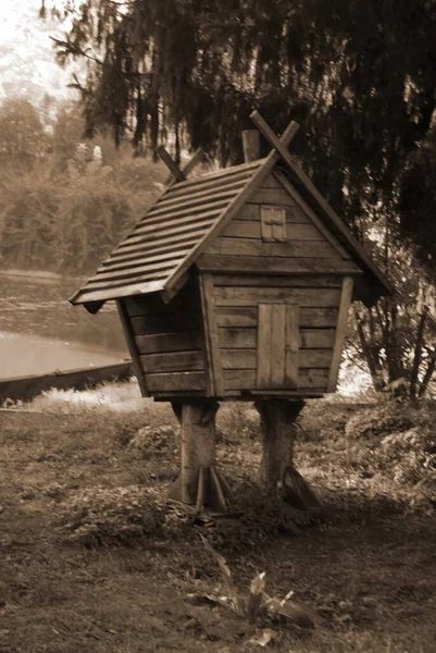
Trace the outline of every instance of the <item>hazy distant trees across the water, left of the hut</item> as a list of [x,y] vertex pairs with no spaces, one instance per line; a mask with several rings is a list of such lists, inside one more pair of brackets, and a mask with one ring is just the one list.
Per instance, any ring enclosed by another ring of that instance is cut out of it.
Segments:
[[26,101],[0,108],[0,262],[83,274],[145,212],[166,176],[103,136],[82,138],[75,107],[55,120]]

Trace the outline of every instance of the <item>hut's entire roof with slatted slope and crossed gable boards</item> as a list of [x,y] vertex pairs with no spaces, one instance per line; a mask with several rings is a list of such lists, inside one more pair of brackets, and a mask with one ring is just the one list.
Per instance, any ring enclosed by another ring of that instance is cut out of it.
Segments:
[[71,297],[72,304],[84,304],[96,312],[108,299],[163,291],[174,293],[207,245],[274,169],[284,173],[279,176],[287,192],[322,220],[361,268],[363,275],[356,282],[354,298],[372,305],[379,296],[395,293],[287,150],[298,125],[290,123],[278,138],[260,114],[253,112],[251,118],[273,145],[269,156],[190,180],[185,180],[174,164],[175,173],[184,181],[164,190],[96,274]]

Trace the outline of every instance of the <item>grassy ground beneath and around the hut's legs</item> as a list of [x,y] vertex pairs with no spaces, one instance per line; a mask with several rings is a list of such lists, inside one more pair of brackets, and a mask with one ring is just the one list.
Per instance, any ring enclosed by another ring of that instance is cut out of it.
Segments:
[[[279,653],[436,650],[436,447],[413,440],[434,422],[433,406],[424,417],[409,407],[308,406],[297,465],[326,505],[310,525],[252,484],[257,416],[225,406],[219,459],[237,515],[194,520],[165,500],[177,424],[166,405],[135,393],[126,385],[67,403],[58,393],[28,407],[39,412],[0,412],[1,653],[233,653],[261,650],[248,640],[266,626],[276,634],[266,650]],[[398,433],[412,443],[402,457]],[[221,582],[199,532],[240,593],[265,571],[267,592],[294,590],[316,627],[250,625],[199,605]]]

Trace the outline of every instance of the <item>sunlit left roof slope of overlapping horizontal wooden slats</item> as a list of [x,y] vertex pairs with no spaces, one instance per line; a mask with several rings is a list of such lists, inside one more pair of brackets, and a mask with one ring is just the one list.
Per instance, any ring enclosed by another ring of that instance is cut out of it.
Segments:
[[163,291],[173,273],[226,212],[264,159],[167,188],[112,251],[72,304]]

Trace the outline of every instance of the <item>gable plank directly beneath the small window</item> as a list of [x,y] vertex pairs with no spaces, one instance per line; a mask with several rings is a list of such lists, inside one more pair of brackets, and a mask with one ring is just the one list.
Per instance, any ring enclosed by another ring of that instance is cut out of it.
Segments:
[[[269,227],[269,229],[267,229]],[[274,224],[275,227],[275,224]],[[316,241],[288,241],[287,243],[271,242],[278,235],[277,227],[273,232],[273,222],[262,222],[262,239],[253,238],[217,238],[207,254],[219,254],[224,256],[253,256],[253,257],[289,257],[289,258],[320,258],[338,259],[338,252],[329,243]]]

